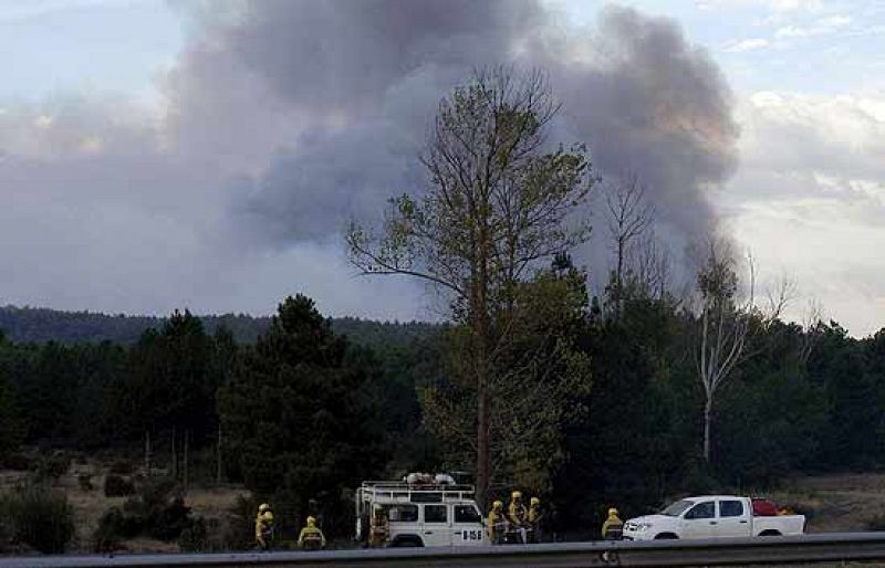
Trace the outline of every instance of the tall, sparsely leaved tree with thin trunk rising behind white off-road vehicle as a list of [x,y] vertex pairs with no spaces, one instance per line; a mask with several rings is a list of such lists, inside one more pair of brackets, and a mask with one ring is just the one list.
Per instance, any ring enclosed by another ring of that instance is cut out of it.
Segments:
[[429,282],[451,297],[469,332],[476,390],[476,474],[489,485],[493,358],[512,334],[518,284],[539,262],[589,238],[566,222],[591,186],[583,147],[545,151],[559,109],[545,76],[479,71],[440,104],[421,157],[429,187],[391,201],[381,234],[351,225],[352,263],[365,274]]

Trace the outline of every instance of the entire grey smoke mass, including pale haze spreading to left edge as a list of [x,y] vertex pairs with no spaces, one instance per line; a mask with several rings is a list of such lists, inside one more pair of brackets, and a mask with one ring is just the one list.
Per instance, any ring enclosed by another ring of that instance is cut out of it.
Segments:
[[[610,8],[576,28],[533,0],[231,6],[180,4],[197,25],[159,118],[107,101],[0,114],[0,297],[267,313],[302,290],[330,313],[421,317],[413,285],[347,277],[337,239],[421,187],[438,101],[483,65],[545,70],[555,137],[586,141],[605,176],[638,175],[677,252],[716,225],[730,94],[671,20]],[[580,259],[593,270],[601,238]]]

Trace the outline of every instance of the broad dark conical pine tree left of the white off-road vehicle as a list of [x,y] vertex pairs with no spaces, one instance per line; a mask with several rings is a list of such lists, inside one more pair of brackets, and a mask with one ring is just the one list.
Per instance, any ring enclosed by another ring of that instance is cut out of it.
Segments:
[[313,301],[288,297],[219,392],[225,460],[250,490],[285,501],[289,519],[317,496],[335,508],[384,463],[366,371],[347,349]]

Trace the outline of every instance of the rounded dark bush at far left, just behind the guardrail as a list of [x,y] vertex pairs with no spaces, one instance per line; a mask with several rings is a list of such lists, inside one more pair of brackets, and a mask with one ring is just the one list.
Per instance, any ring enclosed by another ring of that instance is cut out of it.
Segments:
[[64,553],[74,537],[73,508],[45,486],[24,486],[8,495],[0,508],[12,540],[41,553]]

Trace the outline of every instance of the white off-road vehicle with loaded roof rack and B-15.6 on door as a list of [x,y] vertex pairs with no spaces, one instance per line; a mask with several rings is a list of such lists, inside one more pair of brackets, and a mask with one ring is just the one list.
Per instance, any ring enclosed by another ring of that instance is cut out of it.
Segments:
[[447,474],[365,481],[355,495],[356,538],[374,546],[488,545],[475,494]]

